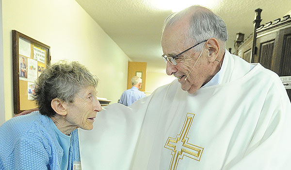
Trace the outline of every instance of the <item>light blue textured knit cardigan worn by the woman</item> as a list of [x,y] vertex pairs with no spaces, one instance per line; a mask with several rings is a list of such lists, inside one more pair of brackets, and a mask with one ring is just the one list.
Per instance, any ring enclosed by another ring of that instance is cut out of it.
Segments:
[[[38,111],[18,116],[0,126],[0,170],[60,170],[64,151]],[[78,130],[71,132],[68,170],[80,161]]]

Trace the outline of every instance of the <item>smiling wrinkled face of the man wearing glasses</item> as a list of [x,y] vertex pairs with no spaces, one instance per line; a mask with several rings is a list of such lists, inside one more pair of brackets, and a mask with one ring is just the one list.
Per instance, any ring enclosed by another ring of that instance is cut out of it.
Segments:
[[[189,45],[185,42],[188,36],[187,24],[175,24],[166,28],[162,35],[162,50],[167,56],[176,55],[191,46],[194,46],[198,42],[193,42]],[[206,42],[207,43],[207,42]],[[204,43],[201,43],[204,44]],[[201,53],[202,52],[202,53]],[[199,55],[201,57],[197,61]],[[178,78],[178,82],[181,84],[181,88],[189,93],[195,93],[202,85],[207,83],[211,79],[210,72],[213,69],[207,59],[209,55],[206,45],[203,46],[199,51],[191,49],[183,53],[179,58],[176,59],[177,65],[173,66],[169,62],[167,63],[166,72],[168,75],[174,74]],[[197,61],[195,67],[193,68],[195,62]],[[191,71],[191,69],[193,70]],[[191,73],[190,73],[191,71]],[[188,78],[185,80],[187,75],[190,73]]]

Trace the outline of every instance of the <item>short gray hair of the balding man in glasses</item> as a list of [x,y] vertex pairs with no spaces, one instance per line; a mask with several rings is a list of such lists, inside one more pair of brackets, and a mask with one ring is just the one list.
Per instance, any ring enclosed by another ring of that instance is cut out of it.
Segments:
[[[188,7],[178,13],[169,15],[163,24],[162,32],[167,26],[173,25],[176,21],[180,20],[183,16],[196,10],[189,23],[189,38],[186,39],[187,43],[194,45],[209,38],[217,38],[222,42],[226,42],[228,35],[226,23],[224,20],[215,15],[212,11],[199,5]],[[199,46],[195,47],[197,51]]]

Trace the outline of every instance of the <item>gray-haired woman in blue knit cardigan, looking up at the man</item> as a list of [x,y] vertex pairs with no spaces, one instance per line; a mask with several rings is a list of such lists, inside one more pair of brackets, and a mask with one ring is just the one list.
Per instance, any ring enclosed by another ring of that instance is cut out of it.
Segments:
[[78,62],[63,61],[45,69],[34,94],[39,111],[0,127],[0,170],[81,166],[77,128],[91,130],[102,109],[96,86],[97,78]]

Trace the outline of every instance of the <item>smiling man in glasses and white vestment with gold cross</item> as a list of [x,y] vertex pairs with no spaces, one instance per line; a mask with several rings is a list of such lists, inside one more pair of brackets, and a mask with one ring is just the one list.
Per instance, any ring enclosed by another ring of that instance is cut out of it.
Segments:
[[291,169],[291,103],[282,82],[230,54],[226,40],[226,24],[209,9],[167,17],[162,57],[177,80],[129,108],[112,104],[98,114],[97,127],[80,133],[91,137],[80,141],[82,166]]

